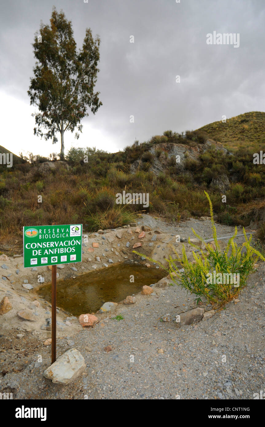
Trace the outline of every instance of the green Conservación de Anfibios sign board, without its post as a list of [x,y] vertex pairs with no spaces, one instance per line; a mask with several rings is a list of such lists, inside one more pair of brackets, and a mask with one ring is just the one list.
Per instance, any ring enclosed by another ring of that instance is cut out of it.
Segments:
[[24,267],[82,261],[82,224],[23,227]]

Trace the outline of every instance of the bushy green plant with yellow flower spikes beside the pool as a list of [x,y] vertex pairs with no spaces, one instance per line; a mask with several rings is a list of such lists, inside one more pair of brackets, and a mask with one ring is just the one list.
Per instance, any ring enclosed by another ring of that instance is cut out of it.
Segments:
[[[216,307],[221,307],[227,302],[233,300],[239,295],[239,292],[243,287],[246,286],[246,280],[250,272],[254,271],[254,264],[260,258],[265,261],[263,255],[253,246],[250,246],[252,236],[249,239],[246,235],[245,229],[243,233],[245,236],[245,242],[238,246],[234,239],[237,235],[237,229],[233,237],[231,237],[227,243],[227,246],[223,252],[221,252],[218,238],[216,234],[216,228],[213,220],[213,205],[210,200],[210,196],[204,191],[208,202],[210,204],[210,215],[212,222],[213,241],[214,243],[206,243],[193,229],[193,233],[201,242],[201,247],[196,246],[191,242],[189,238],[189,244],[197,249],[198,252],[192,252],[194,261],[190,262],[187,258],[185,247],[182,248],[182,258],[179,257],[174,247],[172,249],[176,254],[176,258],[169,257],[166,261],[169,263],[168,268],[164,267],[159,261],[154,261],[149,257],[146,257],[149,261],[156,262],[163,269],[165,269],[172,281],[185,288],[187,291],[194,293],[197,297],[197,304],[201,301],[202,297],[205,297],[208,302]],[[245,247],[245,252],[242,249]],[[133,251],[134,253],[143,256],[139,252]],[[144,255],[146,256],[146,255]],[[180,271],[176,263],[180,263],[182,271]],[[218,280],[211,280],[211,275],[216,275]],[[239,280],[233,281],[228,280],[236,276]],[[221,280],[222,279],[222,280]],[[218,282],[218,283],[211,283]]]

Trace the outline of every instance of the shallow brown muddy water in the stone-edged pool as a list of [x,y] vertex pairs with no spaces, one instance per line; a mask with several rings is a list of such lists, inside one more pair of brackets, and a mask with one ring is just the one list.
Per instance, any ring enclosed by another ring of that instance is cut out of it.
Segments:
[[[134,275],[134,283],[130,276]],[[95,313],[106,301],[119,302],[140,292],[143,285],[156,283],[167,275],[163,269],[121,264],[83,274],[74,279],[57,281],[57,307],[74,316]],[[41,298],[51,302],[51,284],[39,288]]]

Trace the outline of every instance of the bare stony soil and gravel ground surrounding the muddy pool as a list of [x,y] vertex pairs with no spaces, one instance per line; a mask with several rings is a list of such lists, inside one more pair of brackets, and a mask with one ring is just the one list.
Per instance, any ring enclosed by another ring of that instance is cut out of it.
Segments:
[[[136,227],[89,235],[83,246],[83,262],[58,269],[59,279],[94,271],[95,266],[108,269],[104,264],[125,261],[144,266],[146,260],[132,254],[132,246],[137,242],[142,243],[137,248],[139,252],[163,261],[171,251],[170,243],[181,251],[182,243],[175,243],[176,235],[182,239],[193,237],[194,228],[205,239],[211,237],[209,220],[190,219],[172,225],[144,215],[139,222],[137,226],[147,230],[143,238],[139,238]],[[233,234],[232,227],[216,228],[218,237]],[[98,243],[98,247],[93,243]],[[191,257],[191,248],[186,242],[184,245]],[[0,278],[0,298],[7,295],[12,304],[12,310],[0,316],[0,391],[12,392],[13,398],[251,399],[253,393],[264,389],[263,263],[250,276],[239,301],[227,304],[226,310],[210,319],[182,328],[176,327],[175,316],[194,308],[195,297],[177,285],[171,286],[169,279],[154,286],[151,295],[138,293],[135,304],[127,306],[121,302],[114,312],[96,313],[99,323],[94,328],[83,330],[77,319],[58,310],[57,356],[75,347],[87,366],[84,374],[68,386],[58,386],[43,377],[43,371],[50,365],[51,348],[44,341],[51,332],[44,327],[51,309],[47,301],[38,297],[35,288],[39,286],[38,275],[45,282],[51,280],[50,270],[23,269],[22,257],[3,260],[0,265],[7,267],[0,267],[6,278]],[[24,281],[32,284],[33,289],[25,289]],[[206,304],[202,307],[211,308]],[[29,310],[34,320],[18,317],[21,310]],[[113,319],[117,314],[123,320]],[[166,314],[171,321],[161,322]],[[17,334],[23,336],[17,338]],[[108,353],[104,350],[107,345],[112,348]]]

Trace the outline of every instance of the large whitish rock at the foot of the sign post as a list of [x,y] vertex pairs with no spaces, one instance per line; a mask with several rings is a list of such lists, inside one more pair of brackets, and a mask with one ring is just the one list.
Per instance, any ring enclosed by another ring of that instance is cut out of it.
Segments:
[[53,383],[69,384],[82,374],[85,369],[86,365],[82,354],[76,348],[70,348],[70,350],[58,357],[43,374],[45,378],[52,380]]

